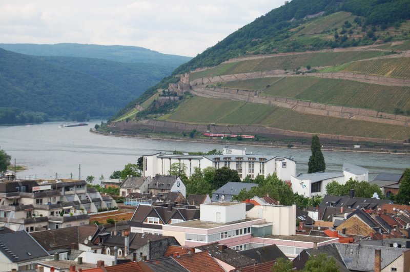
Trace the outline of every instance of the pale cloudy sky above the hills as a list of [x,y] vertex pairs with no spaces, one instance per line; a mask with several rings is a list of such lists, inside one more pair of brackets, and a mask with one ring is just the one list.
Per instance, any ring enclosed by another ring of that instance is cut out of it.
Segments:
[[139,46],[194,57],[284,0],[1,0],[0,43]]

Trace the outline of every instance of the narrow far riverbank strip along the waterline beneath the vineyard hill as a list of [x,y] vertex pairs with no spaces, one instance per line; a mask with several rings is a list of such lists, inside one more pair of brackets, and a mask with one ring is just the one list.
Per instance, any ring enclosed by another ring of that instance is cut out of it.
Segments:
[[[212,143],[212,144],[232,144],[232,145],[242,145],[248,147],[271,147],[271,148],[284,148],[284,149],[310,149],[310,143],[301,144],[300,142],[280,142],[280,141],[247,141],[247,140],[219,140],[214,138],[188,138],[188,137],[177,137],[177,136],[163,136],[163,135],[146,135],[138,134],[135,132],[99,132],[95,129],[90,129],[90,132],[97,135],[112,136],[112,137],[126,137],[126,138],[140,138],[140,139],[151,139],[151,140],[167,140],[167,141],[180,141],[180,142],[198,142],[198,143]],[[361,152],[361,153],[382,153],[382,154],[400,154],[400,155],[410,155],[410,146],[403,147],[403,149],[393,149],[386,146],[374,147],[374,148],[354,148],[352,147],[341,147],[337,145],[331,145],[324,143],[322,145],[322,150],[325,151],[347,151],[347,152]]]

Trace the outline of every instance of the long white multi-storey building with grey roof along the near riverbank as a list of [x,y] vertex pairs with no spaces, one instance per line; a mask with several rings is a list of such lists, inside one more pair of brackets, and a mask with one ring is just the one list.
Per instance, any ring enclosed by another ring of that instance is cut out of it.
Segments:
[[187,166],[187,176],[194,173],[194,168],[204,169],[209,166],[236,170],[243,180],[247,176],[255,179],[257,175],[275,174],[282,181],[290,181],[296,174],[296,162],[292,158],[265,156],[247,153],[245,150],[223,148],[222,155],[174,155],[156,153],[144,156],[144,177],[169,175],[173,163]]

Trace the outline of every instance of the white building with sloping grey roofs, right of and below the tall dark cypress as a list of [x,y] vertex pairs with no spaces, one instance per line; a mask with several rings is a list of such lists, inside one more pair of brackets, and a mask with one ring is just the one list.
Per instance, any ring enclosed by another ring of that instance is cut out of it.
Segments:
[[368,170],[350,163],[343,163],[342,172],[299,173],[291,177],[292,191],[305,197],[323,196],[326,185],[332,181],[345,184],[349,179],[368,181]]

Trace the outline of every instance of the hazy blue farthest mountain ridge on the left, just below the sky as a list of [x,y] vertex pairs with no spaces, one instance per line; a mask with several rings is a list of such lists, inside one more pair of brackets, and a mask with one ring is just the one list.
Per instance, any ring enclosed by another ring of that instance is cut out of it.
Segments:
[[136,46],[102,46],[89,44],[0,44],[0,48],[34,56],[65,56],[101,58],[119,62],[139,62],[158,65],[181,65],[191,57],[162,54]]

